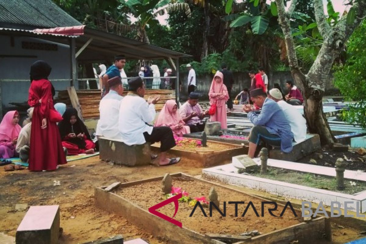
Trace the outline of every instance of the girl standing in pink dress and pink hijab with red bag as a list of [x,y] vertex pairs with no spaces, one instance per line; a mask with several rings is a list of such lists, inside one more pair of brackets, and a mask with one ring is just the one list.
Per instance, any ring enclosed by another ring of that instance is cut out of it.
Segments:
[[223,73],[217,71],[212,79],[208,96],[210,98],[210,105],[216,104],[216,113],[211,115],[211,121],[218,121],[221,123],[221,129],[227,129],[225,102],[229,99],[229,94],[223,80]]

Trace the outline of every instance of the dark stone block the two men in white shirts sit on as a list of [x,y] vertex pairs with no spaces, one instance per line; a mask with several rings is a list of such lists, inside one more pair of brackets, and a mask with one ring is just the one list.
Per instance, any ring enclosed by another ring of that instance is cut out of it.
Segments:
[[148,165],[151,161],[150,143],[128,146],[122,140],[100,137],[99,158],[117,165]]

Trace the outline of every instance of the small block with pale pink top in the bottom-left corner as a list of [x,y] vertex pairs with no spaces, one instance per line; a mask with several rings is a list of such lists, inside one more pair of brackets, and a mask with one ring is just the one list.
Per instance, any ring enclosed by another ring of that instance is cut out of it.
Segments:
[[31,206],[16,230],[16,244],[57,244],[60,231],[59,205]]

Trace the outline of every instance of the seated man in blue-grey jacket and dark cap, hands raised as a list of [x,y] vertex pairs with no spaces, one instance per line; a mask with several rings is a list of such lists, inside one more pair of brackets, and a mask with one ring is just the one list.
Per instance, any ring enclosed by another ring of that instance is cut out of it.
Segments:
[[253,112],[251,105],[243,106],[243,110],[248,113],[250,122],[255,125],[249,134],[248,156],[254,158],[255,150],[261,141],[272,146],[281,146],[281,151],[284,153],[292,151],[294,134],[292,134],[290,124],[280,106],[267,98],[267,94],[262,88],[251,90],[250,97],[262,110],[257,115]]

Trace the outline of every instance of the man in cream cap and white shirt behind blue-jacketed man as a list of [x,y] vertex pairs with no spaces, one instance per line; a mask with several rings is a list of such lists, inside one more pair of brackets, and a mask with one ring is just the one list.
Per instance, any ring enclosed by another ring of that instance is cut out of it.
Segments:
[[273,88],[268,92],[268,98],[277,102],[283,110],[288,122],[291,126],[291,131],[294,134],[295,142],[299,143],[306,139],[306,120],[302,114],[291,104],[282,100],[282,93],[279,89]]

